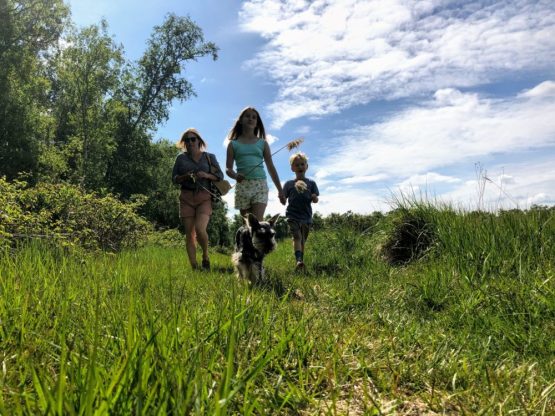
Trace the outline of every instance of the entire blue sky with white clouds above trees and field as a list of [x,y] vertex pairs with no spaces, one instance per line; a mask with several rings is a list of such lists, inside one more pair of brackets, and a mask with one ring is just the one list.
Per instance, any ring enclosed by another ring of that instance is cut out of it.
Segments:
[[[401,194],[465,209],[555,204],[552,0],[69,4],[78,26],[104,17],[130,59],[166,13],[189,15],[219,59],[187,65],[198,96],[175,103],[156,138],[196,127],[224,165],[227,132],[255,106],[273,149],[304,137],[324,215],[385,211]],[[288,157],[274,157],[282,182]],[[267,212],[283,213],[270,189]]]

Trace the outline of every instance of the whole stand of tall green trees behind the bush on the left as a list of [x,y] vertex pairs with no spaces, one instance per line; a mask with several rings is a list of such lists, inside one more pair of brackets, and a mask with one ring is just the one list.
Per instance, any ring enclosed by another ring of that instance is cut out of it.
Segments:
[[176,149],[153,132],[194,95],[185,65],[217,52],[168,14],[132,61],[105,21],[76,28],[62,0],[0,0],[0,177],[143,198],[143,216],[177,226]]

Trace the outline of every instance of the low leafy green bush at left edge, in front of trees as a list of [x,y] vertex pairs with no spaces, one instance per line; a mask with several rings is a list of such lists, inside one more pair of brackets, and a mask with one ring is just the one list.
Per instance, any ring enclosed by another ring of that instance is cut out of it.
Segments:
[[0,235],[16,239],[49,238],[87,249],[118,251],[136,246],[150,225],[137,215],[142,201],[123,203],[68,184],[9,183],[0,178]]

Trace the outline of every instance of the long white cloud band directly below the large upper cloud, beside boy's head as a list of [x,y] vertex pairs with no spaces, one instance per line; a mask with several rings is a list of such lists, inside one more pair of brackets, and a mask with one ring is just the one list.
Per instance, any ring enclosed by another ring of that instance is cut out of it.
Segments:
[[434,97],[381,123],[341,132],[341,148],[314,166],[315,177],[387,175],[405,181],[488,155],[555,145],[555,96],[493,100],[440,90]]

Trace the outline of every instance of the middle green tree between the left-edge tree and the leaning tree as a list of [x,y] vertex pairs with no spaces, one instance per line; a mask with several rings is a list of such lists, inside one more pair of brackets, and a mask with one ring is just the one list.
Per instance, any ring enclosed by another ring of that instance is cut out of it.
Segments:
[[102,20],[70,33],[68,46],[58,55],[53,82],[56,143],[69,162],[66,177],[89,189],[106,185],[108,162],[115,150],[112,97],[123,55],[107,27]]

